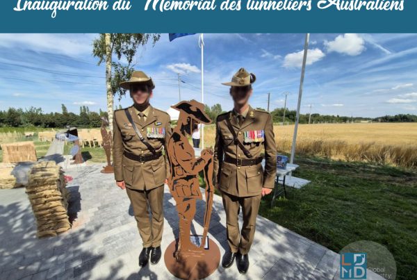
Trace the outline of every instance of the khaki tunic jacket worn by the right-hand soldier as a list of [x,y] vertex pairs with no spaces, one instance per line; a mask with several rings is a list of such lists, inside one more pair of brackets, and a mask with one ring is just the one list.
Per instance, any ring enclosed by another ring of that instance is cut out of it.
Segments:
[[[252,158],[258,158],[265,154],[265,170],[261,163],[250,166],[236,166],[223,162],[223,156],[231,158],[248,158],[242,149],[234,142],[233,135],[227,126],[227,118],[238,135],[240,142],[252,154]],[[245,142],[245,131],[264,131],[262,142]],[[261,195],[262,188],[274,188],[277,173],[277,147],[272,126],[272,116],[262,110],[249,108],[242,126],[239,126],[236,114],[229,111],[219,115],[216,120],[214,174],[217,186],[222,192],[227,192],[235,197],[251,197]]]

